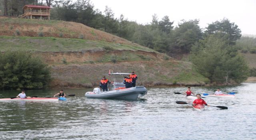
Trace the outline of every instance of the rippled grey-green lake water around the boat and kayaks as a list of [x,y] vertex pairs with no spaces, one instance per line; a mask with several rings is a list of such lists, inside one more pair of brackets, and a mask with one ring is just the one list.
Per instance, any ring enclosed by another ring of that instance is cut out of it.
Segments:
[[[213,93],[217,87],[192,87],[194,93]],[[43,140],[254,140],[256,139],[256,83],[222,87],[236,98],[204,98],[209,105],[193,111],[186,87],[148,88],[141,100],[103,100],[84,96],[92,89],[64,90],[67,101],[0,102],[0,139]],[[0,98],[17,96],[0,91]],[[58,90],[28,90],[27,96],[53,96]]]

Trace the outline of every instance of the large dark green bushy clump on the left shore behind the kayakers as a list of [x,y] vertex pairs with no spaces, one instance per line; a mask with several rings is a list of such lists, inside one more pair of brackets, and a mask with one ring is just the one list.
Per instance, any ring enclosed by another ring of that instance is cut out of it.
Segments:
[[0,89],[42,89],[50,83],[50,67],[23,51],[0,53]]

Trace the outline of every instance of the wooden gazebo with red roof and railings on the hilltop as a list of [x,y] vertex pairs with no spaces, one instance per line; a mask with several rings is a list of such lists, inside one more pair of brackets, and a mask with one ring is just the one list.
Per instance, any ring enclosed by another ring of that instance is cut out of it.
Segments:
[[38,6],[38,5],[25,5],[23,7],[24,14],[22,14],[21,18],[28,19],[45,19],[50,20],[50,9],[48,6]]

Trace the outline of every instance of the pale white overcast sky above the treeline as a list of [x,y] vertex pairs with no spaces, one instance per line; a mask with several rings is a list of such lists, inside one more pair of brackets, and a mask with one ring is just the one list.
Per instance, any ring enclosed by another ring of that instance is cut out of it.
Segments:
[[200,20],[200,27],[228,18],[242,34],[256,34],[256,0],[91,0],[95,9],[112,9],[116,18],[121,14],[130,21],[147,24],[156,14],[160,21],[169,16],[174,26],[180,20]]

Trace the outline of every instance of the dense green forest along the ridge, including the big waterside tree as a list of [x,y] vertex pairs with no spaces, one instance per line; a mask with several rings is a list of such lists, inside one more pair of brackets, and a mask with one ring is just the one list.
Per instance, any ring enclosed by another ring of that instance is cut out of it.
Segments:
[[198,19],[181,20],[174,27],[168,16],[159,20],[156,14],[148,24],[129,21],[124,15],[115,18],[110,7],[101,12],[90,0],[0,0],[0,4],[5,16],[22,14],[25,4],[51,6],[51,19],[79,22],[178,59],[190,53],[195,68],[211,82],[242,82],[248,76],[248,66],[238,54],[246,48],[242,46],[244,38],[238,25],[227,18],[202,29]]

